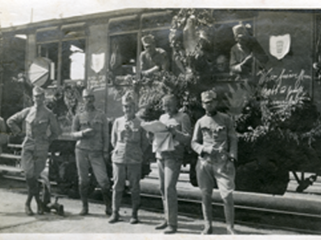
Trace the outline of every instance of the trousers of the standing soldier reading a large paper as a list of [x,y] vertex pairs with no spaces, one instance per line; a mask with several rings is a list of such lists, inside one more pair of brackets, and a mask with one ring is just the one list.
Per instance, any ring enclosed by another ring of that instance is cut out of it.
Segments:
[[177,227],[177,180],[181,171],[182,160],[167,158],[157,159],[160,193],[163,198],[165,220],[172,227]]

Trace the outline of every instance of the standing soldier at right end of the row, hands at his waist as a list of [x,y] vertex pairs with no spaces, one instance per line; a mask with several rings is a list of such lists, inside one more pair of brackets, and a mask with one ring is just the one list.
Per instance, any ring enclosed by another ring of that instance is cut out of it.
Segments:
[[234,161],[237,159],[237,135],[231,118],[216,111],[217,95],[213,90],[202,93],[202,106],[206,115],[197,120],[192,148],[199,154],[196,173],[202,191],[204,231],[212,233],[211,195],[216,180],[224,203],[227,233],[234,234]]

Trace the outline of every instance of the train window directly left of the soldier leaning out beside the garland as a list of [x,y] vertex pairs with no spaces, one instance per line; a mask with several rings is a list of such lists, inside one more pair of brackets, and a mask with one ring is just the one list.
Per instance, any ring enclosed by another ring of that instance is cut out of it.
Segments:
[[136,73],[137,34],[110,37],[110,71],[117,85],[130,84]]

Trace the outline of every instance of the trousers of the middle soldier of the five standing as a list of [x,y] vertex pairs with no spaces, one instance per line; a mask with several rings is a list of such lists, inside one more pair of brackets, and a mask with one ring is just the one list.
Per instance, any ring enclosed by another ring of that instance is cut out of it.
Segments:
[[114,186],[112,186],[112,211],[119,211],[121,197],[125,188],[126,179],[129,181],[133,210],[137,211],[140,205],[140,177],[141,163],[112,163]]

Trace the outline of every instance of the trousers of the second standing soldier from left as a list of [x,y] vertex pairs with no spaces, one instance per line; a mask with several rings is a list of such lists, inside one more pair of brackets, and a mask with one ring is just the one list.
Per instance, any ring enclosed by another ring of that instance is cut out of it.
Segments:
[[110,181],[107,176],[106,164],[103,159],[103,151],[76,148],[75,154],[80,191],[88,191],[89,167],[91,166],[102,192],[108,192],[110,189]]

